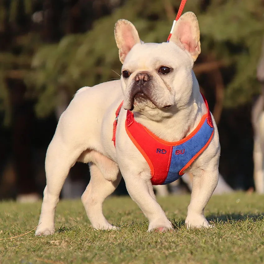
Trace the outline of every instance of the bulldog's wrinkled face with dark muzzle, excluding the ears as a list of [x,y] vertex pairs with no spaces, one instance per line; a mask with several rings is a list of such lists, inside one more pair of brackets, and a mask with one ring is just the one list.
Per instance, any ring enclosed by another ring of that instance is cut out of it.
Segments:
[[122,67],[124,107],[168,109],[190,93],[193,61],[174,43],[135,45]]

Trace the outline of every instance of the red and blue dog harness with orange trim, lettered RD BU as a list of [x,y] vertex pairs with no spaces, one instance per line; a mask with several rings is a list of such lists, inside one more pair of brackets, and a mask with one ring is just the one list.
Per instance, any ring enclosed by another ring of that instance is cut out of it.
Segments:
[[[153,185],[169,184],[179,179],[184,174],[184,170],[209,145],[213,137],[214,127],[211,113],[204,96],[203,99],[207,107],[207,113],[203,115],[200,123],[191,134],[176,142],[168,142],[158,138],[146,127],[136,122],[134,114],[127,110],[125,121],[126,133],[148,162]],[[117,119],[122,104],[123,102],[121,102],[116,110],[112,138],[114,145]]]

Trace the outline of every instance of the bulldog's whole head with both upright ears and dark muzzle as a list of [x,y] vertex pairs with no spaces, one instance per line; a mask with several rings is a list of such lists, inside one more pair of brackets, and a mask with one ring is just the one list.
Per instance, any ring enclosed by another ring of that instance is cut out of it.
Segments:
[[134,25],[124,19],[115,25],[122,67],[123,107],[151,119],[170,116],[188,104],[192,68],[201,52],[196,16],[187,12],[176,22],[168,43],[143,43]]

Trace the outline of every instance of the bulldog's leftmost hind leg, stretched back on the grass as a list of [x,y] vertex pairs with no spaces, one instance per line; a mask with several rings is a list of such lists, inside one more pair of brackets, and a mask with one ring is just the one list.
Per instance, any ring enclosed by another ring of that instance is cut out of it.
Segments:
[[44,189],[39,226],[35,235],[49,235],[55,231],[54,216],[59,195],[70,168],[75,164],[80,152],[66,147],[61,137],[54,136],[46,154],[45,170],[47,184]]

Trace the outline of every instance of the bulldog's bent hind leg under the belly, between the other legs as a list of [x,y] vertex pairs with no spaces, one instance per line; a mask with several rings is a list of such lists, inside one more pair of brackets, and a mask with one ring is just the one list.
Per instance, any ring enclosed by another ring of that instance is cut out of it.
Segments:
[[[106,160],[107,158],[105,157],[104,159]],[[111,181],[106,179],[106,175],[103,175],[103,172],[105,171],[102,172],[102,167],[100,168],[100,166],[97,166],[92,162],[89,164],[89,166],[91,180],[82,195],[82,203],[84,205],[87,216],[93,228],[95,229],[116,229],[116,226],[109,224],[105,219],[102,212],[102,204],[105,198],[113,193],[120,183],[121,174],[116,171],[117,173],[114,173],[115,175],[113,175],[113,181]],[[115,169],[113,171],[115,171]]]

